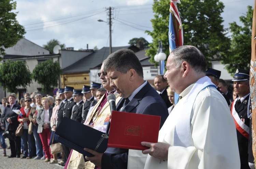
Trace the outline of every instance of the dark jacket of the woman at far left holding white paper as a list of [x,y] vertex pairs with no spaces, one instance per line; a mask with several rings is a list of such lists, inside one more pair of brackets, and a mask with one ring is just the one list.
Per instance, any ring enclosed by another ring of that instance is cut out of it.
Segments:
[[[13,108],[12,110],[19,110],[21,107],[15,103],[13,105]],[[9,123],[7,122],[7,119],[10,117],[11,120],[12,120],[12,124],[10,124],[10,127],[13,128],[14,131],[16,131],[18,125],[19,125],[19,122],[18,122],[18,114],[15,113],[14,111],[11,110],[11,107],[10,105],[6,106],[3,110],[3,115],[2,115],[2,118],[3,120],[5,121],[5,130],[8,129],[9,127]],[[10,129],[11,129],[10,128]]]

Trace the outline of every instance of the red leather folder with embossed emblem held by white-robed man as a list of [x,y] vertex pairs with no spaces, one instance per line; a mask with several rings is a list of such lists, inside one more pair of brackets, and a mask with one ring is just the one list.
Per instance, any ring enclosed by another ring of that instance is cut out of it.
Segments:
[[112,111],[108,147],[146,150],[141,142],[158,142],[160,116]]

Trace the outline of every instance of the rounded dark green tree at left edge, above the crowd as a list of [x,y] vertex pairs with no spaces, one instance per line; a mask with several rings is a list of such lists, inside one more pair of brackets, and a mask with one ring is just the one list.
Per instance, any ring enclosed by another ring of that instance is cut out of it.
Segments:
[[17,87],[31,83],[31,73],[24,61],[6,61],[0,65],[0,86],[10,93],[17,93]]

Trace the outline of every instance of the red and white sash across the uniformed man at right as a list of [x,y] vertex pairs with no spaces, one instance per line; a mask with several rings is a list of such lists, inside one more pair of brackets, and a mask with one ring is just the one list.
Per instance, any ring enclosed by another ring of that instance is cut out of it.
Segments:
[[236,109],[234,108],[235,105],[235,101],[234,100],[231,104],[231,115],[234,118],[234,122],[236,124],[236,128],[237,130],[247,139],[249,139],[249,127],[244,124],[244,121],[242,119],[240,119],[239,115],[237,114]]

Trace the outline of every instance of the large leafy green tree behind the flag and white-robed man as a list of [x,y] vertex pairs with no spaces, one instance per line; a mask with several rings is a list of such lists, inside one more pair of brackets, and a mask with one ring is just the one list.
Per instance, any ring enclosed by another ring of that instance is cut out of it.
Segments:
[[[146,51],[151,62],[158,50],[158,40],[162,41],[167,56],[169,53],[168,26],[170,0],[154,0],[154,19],[151,20],[153,31],[146,31],[153,38]],[[230,39],[225,36],[222,25],[223,2],[219,0],[183,0],[177,4],[183,26],[184,45],[196,46],[210,63],[213,57],[228,49]]]

